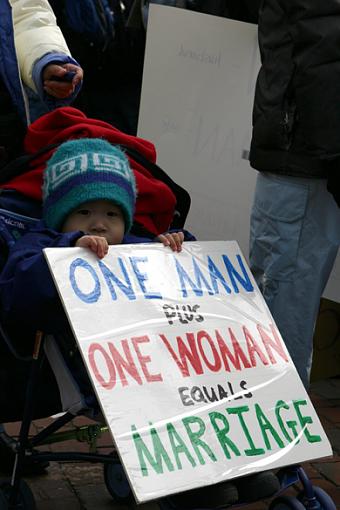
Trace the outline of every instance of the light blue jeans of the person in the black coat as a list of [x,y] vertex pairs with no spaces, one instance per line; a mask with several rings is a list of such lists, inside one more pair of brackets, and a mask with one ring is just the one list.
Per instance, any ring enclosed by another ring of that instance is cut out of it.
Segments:
[[320,298],[340,244],[340,209],[326,180],[260,173],[250,268],[308,387]]

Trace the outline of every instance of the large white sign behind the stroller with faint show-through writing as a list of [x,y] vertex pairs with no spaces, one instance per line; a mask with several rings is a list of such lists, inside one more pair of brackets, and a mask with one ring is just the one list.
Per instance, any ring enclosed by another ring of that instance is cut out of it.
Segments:
[[[192,198],[187,228],[248,254],[257,26],[150,5],[138,134]],[[324,293],[339,301],[340,256]]]

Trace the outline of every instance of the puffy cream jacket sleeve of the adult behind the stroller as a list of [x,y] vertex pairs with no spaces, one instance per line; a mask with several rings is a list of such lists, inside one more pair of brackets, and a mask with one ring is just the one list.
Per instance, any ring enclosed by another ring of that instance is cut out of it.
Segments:
[[46,53],[70,55],[70,51],[46,0],[10,0],[10,4],[21,78],[35,90],[34,63]]

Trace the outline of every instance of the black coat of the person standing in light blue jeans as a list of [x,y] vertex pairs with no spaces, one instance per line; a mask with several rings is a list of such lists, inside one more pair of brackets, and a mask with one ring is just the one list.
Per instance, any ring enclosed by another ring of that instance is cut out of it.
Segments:
[[334,179],[340,168],[340,0],[263,0],[259,44],[251,165]]

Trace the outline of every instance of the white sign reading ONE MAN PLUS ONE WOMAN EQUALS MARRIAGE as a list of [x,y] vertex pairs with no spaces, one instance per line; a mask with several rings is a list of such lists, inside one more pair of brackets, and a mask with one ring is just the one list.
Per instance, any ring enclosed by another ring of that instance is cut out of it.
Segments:
[[331,454],[237,243],[44,251],[137,501]]

